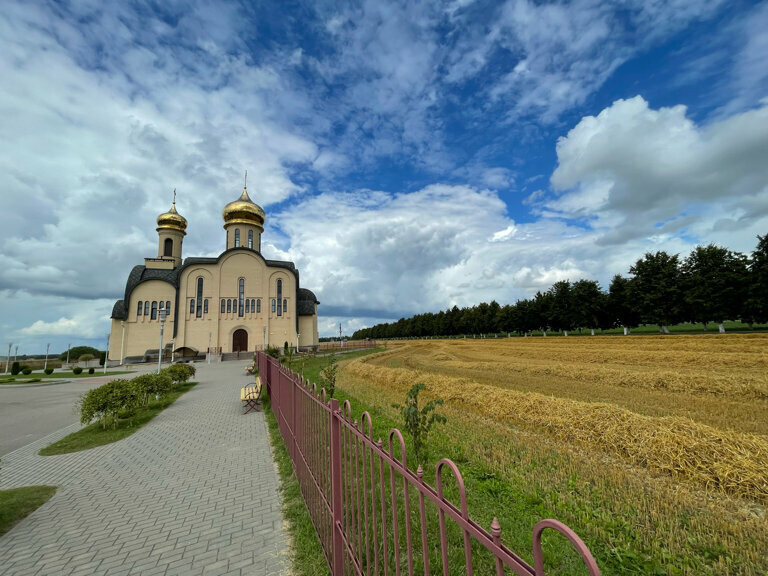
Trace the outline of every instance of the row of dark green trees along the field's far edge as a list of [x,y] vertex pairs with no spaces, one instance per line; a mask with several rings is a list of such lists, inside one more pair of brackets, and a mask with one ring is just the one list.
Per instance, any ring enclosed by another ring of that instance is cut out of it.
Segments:
[[750,326],[768,322],[768,234],[758,236],[751,255],[709,244],[684,259],[664,251],[646,253],[617,274],[605,291],[595,280],[556,282],[533,298],[501,306],[496,301],[454,306],[397,322],[362,328],[353,338],[408,338],[554,330],[607,330],[656,324],[662,332],[680,322],[726,320]]

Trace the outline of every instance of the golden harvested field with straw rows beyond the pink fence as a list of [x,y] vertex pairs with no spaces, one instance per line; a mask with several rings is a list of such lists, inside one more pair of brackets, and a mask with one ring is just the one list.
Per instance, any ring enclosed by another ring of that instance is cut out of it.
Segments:
[[441,455],[542,501],[604,573],[768,574],[768,335],[390,343],[341,386],[396,417],[415,382]]

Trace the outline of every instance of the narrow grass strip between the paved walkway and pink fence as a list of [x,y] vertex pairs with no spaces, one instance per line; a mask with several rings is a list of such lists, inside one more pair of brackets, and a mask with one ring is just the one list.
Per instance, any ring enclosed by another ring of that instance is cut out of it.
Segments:
[[288,534],[291,539],[293,574],[294,576],[326,576],[330,574],[328,563],[325,561],[320,540],[317,538],[315,527],[304,503],[304,497],[301,495],[299,481],[293,473],[291,456],[288,454],[283,437],[280,435],[269,398],[264,400],[264,415],[269,428],[272,454],[280,474],[283,517],[288,523]]

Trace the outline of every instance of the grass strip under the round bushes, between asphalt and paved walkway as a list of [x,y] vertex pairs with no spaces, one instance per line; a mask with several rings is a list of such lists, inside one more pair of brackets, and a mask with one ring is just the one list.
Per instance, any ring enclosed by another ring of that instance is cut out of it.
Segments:
[[54,456],[56,454],[70,454],[88,450],[96,446],[103,446],[127,438],[147,422],[152,420],[160,412],[173,404],[182,394],[189,391],[197,382],[187,382],[167,396],[159,400],[151,400],[146,408],[136,410],[133,415],[126,415],[120,418],[116,428],[102,428],[99,422],[89,424],[77,432],[65,436],[61,440],[54,442],[40,450],[40,456]]

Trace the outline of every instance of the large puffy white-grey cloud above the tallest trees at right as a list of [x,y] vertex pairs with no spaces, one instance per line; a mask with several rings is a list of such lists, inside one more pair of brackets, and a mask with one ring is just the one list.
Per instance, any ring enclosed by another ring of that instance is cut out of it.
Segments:
[[740,229],[744,249],[768,223],[765,126],[768,105],[699,126],[684,106],[618,100],[558,141],[551,183],[561,193],[541,209],[588,221],[609,244],[660,231],[714,241]]

